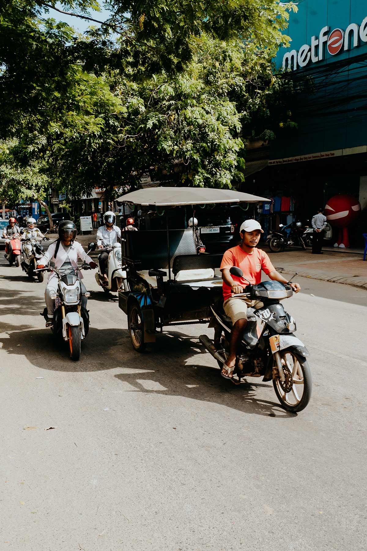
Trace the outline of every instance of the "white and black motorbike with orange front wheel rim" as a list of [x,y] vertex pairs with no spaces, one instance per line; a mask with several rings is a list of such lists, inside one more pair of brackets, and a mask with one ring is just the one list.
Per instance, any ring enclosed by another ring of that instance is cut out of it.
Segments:
[[[89,251],[95,250],[94,243],[89,244]],[[69,355],[74,361],[79,360],[81,352],[81,341],[89,332],[89,314],[81,306],[81,284],[78,279],[80,270],[92,269],[84,263],[74,269],[74,273],[61,274],[56,267],[36,268],[35,272],[54,272],[58,278],[57,293],[51,296],[55,300],[53,313],[53,326],[51,331],[56,342],[67,341],[69,343]],[[85,296],[90,296],[86,291]],[[41,316],[47,321],[47,308],[41,312]]]

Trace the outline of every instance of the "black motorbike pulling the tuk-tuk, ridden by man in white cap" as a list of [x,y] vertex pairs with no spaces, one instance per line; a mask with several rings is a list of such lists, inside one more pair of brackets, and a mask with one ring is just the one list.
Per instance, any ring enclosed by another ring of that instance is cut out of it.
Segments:
[[[237,267],[232,267],[229,272],[233,276],[243,276],[242,270]],[[248,323],[233,372],[237,381],[233,378],[232,382],[239,384],[243,377],[263,377],[265,382],[272,380],[282,407],[290,412],[299,412],[310,401],[312,379],[306,360],[309,352],[294,335],[295,321],[280,302],[292,296],[292,287],[266,281],[247,285],[244,294],[250,300],[261,301],[264,306],[258,310],[248,308]],[[243,294],[233,296],[240,299]],[[222,301],[212,304],[210,308],[213,317],[209,327],[215,328],[214,342],[206,335],[201,335],[199,340],[222,369],[229,355],[232,322],[223,311]]]

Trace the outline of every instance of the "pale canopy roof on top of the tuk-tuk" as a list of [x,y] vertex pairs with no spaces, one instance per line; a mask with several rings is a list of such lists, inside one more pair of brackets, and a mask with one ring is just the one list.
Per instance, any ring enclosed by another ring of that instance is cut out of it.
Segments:
[[122,195],[117,201],[134,205],[179,207],[212,203],[270,203],[271,199],[233,190],[209,187],[154,187]]

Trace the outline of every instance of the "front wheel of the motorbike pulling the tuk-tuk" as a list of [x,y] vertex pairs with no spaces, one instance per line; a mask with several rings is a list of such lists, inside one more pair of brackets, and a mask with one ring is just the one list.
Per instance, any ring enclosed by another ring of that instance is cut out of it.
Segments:
[[[288,412],[302,411],[310,401],[312,377],[307,360],[292,349],[280,351],[283,371],[286,377],[273,379],[273,386],[282,407]],[[277,362],[274,358],[274,368]]]

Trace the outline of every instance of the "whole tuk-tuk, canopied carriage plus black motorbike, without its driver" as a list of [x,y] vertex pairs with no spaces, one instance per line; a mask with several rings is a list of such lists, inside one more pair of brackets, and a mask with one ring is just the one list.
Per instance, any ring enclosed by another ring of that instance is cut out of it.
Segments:
[[[194,218],[195,207],[224,203],[241,205],[269,202],[269,199],[231,190],[206,188],[151,188],[127,193],[117,199],[130,208],[140,207],[146,214],[166,214],[166,228],[124,231],[122,240],[123,269],[127,278],[119,290],[119,307],[128,317],[133,348],[143,352],[155,343],[163,328],[206,323],[214,329],[214,338],[199,336],[200,343],[216,359],[220,369],[228,369],[232,321],[223,310],[222,278],[215,273],[222,255],[198,254],[195,228],[172,227],[171,209],[184,207],[184,220]],[[167,215],[169,212],[169,217]],[[247,212],[247,217],[251,213]],[[251,213],[252,214],[252,213]],[[125,217],[124,217],[125,218]],[[171,227],[168,223],[171,219]],[[178,217],[179,218],[179,217]],[[235,244],[233,244],[235,245]],[[242,277],[239,267],[232,275]],[[217,272],[218,273],[218,272]],[[281,406],[299,412],[309,403],[312,379],[307,361],[308,350],[293,334],[296,326],[281,304],[292,296],[291,285],[276,281],[249,284],[244,293],[258,304],[248,307],[248,323],[237,352],[233,374],[226,379],[235,384],[244,377],[262,377],[272,381]]]

